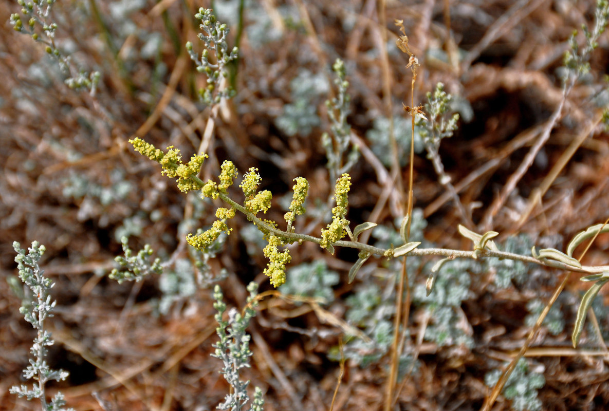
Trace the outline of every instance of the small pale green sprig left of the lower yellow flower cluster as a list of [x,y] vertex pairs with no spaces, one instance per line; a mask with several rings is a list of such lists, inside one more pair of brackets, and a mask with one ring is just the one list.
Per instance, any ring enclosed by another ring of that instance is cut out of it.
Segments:
[[149,257],[154,251],[150,248],[149,244],[144,245],[144,248],[134,255],[133,250],[129,248],[127,237],[122,237],[121,243],[125,256],[117,256],[114,258],[114,261],[121,265],[121,269],[113,269],[110,273],[111,279],[115,279],[119,284],[125,280],[139,282],[147,275],[153,273],[161,274],[163,272],[163,267],[161,267],[161,260],[159,258],[150,261],[151,258]]

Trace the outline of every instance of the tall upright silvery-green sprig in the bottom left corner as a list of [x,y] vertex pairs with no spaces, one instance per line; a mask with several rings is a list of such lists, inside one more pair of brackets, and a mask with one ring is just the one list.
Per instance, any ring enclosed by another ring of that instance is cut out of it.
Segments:
[[11,387],[9,392],[19,397],[26,397],[28,401],[34,398],[40,399],[43,411],[63,411],[66,410],[63,408],[66,402],[62,393],[57,393],[51,402],[47,402],[45,395],[45,386],[48,381],[63,381],[69,376],[68,371],[52,370],[46,362],[49,352],[47,347],[53,345],[55,341],[51,338],[51,333],[44,328],[44,321],[53,316],[51,313],[57,303],[57,301],[51,301],[50,295],[54,284],[50,278],[44,276],[44,270],[38,265],[46,248],[38,241],[32,242],[32,247],[27,249],[27,254],[26,250],[23,250],[16,241],[13,242],[13,248],[17,253],[15,262],[18,263],[19,278],[32,290],[32,300],[23,304],[19,312],[38,331],[32,348],[30,348],[33,359],[29,360],[30,365],[23,370],[23,377],[37,382],[31,387],[24,384],[21,387]]

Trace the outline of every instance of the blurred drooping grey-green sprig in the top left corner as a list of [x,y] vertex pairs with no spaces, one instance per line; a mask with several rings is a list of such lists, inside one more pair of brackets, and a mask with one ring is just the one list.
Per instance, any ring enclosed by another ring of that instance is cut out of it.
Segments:
[[17,2],[22,7],[21,13],[27,19],[27,23],[23,23],[18,13],[13,13],[9,20],[13,30],[27,34],[34,41],[45,45],[46,53],[57,61],[62,73],[67,77],[64,81],[69,88],[75,90],[86,89],[91,96],[94,96],[101,74],[98,71],[89,74],[76,69],[69,55],[63,54],[55,45],[55,32],[58,25],[49,21],[49,15],[55,0],[30,0],[27,2],[18,0]]

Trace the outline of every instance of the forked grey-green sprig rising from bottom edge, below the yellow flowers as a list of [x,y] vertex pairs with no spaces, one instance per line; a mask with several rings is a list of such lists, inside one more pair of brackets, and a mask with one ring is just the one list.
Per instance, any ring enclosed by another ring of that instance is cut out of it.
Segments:
[[[247,290],[250,295],[247,297],[247,306],[244,309],[243,315],[239,314],[235,308],[230,309],[227,321],[222,318],[227,309],[223,301],[224,295],[222,295],[220,286],[216,285],[214,287],[214,309],[217,311],[214,318],[216,318],[218,323],[216,333],[220,337],[220,340],[213,345],[216,351],[211,356],[221,359],[224,363],[220,374],[224,376],[232,388],[231,393],[227,394],[225,401],[219,404],[218,409],[220,410],[230,409],[231,411],[240,411],[250,399],[247,395],[247,386],[250,382],[244,382],[239,379],[239,370],[244,367],[250,367],[250,357],[252,356],[252,351],[250,351],[250,335],[245,332],[245,329],[252,317],[256,315],[255,307],[258,306],[258,301],[256,300],[258,284],[250,283],[247,286]],[[263,406],[262,392],[260,388],[256,387],[251,409],[262,410]]]

